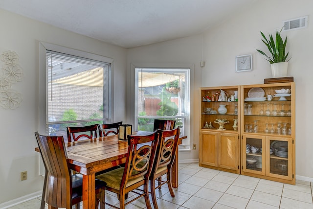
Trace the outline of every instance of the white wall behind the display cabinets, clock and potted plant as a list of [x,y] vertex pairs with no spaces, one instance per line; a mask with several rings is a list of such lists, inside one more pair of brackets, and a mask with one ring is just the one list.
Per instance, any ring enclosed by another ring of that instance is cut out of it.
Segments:
[[[284,20],[309,15],[308,28],[282,32],[282,35],[288,36],[287,49],[292,57],[288,76],[293,76],[296,83],[296,176],[313,180],[313,140],[310,131],[313,116],[312,8],[312,0],[262,0],[202,35],[128,50],[128,73],[131,63],[195,64],[194,85],[191,85],[193,110],[190,140],[198,146],[197,150],[179,153],[179,160],[199,158],[199,86],[263,84],[264,78],[271,78],[271,71],[269,63],[256,51],[266,50],[260,31],[275,33],[276,29],[281,29]],[[200,67],[202,50],[205,61],[203,69]],[[244,54],[253,54],[253,71],[236,73],[235,57]],[[127,94],[131,101],[131,92]],[[130,110],[128,113],[131,113]]]

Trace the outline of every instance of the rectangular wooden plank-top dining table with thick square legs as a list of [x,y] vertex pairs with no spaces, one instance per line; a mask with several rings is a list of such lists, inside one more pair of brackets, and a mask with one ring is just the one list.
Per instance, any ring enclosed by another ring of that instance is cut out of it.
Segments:
[[[147,132],[138,131],[136,135]],[[186,136],[179,137],[181,140]],[[67,158],[72,170],[83,174],[83,208],[95,209],[95,173],[126,163],[128,142],[118,135],[66,143]],[[38,147],[36,151],[40,151]],[[178,150],[172,167],[172,186],[178,187]]]

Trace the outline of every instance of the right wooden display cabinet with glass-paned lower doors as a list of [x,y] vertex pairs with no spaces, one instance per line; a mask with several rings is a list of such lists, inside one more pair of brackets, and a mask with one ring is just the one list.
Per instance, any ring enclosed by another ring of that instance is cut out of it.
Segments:
[[[282,89],[291,93],[275,92]],[[241,173],[294,185],[294,83],[246,85],[241,87],[241,94]],[[264,99],[267,95],[275,96],[268,101]],[[252,153],[247,150],[251,146],[259,150]]]

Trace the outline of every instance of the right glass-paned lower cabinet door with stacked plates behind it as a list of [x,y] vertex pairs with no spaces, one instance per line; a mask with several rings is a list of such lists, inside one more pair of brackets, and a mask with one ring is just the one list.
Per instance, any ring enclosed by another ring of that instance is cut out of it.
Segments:
[[292,139],[267,137],[267,175],[283,179],[292,179]]

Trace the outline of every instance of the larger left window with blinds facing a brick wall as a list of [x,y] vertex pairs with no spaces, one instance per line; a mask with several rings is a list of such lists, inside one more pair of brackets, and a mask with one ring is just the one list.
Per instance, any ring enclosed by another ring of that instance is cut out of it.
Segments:
[[110,122],[110,76],[108,63],[46,50],[46,133]]

